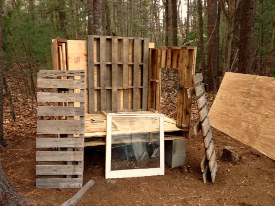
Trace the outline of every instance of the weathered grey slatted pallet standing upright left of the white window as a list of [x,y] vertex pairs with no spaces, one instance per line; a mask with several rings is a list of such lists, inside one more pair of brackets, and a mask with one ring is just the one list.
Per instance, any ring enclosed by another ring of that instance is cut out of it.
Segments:
[[[57,137],[36,138],[36,148],[46,148],[36,152],[36,188],[81,188],[85,129],[85,72],[84,70],[40,70],[37,73],[37,87],[53,88],[57,91],[37,92],[38,102],[62,102],[67,103],[67,106],[37,107],[38,116],[65,118],[37,120],[37,134],[56,134]],[[59,89],[63,93],[58,93]],[[77,90],[80,93],[76,93]],[[75,107],[75,102],[78,102],[79,106]],[[77,120],[74,117],[77,117]],[[66,137],[61,138],[61,134]],[[56,151],[52,148],[56,148]]]

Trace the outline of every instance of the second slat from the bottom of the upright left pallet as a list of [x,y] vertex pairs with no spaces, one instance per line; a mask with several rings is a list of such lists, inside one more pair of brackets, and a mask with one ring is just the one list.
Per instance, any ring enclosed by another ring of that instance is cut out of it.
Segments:
[[36,175],[82,175],[83,165],[36,165]]

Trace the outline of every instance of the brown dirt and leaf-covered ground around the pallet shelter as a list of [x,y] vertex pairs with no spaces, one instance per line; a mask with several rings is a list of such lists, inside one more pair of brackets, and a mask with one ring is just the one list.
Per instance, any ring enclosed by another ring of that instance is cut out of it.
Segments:
[[[4,104],[4,136],[8,146],[0,150],[5,174],[17,191],[39,206],[59,206],[71,198],[78,189],[35,188],[36,109],[31,109],[28,98],[12,89],[15,97],[16,120],[13,121],[7,101]],[[15,91],[15,93],[14,93]],[[175,117],[170,104],[163,113]],[[197,121],[192,109],[191,128]],[[275,163],[246,145],[212,129],[217,156],[214,183],[203,183],[200,162],[204,149],[201,134],[190,130],[186,148],[187,172],[181,167],[165,165],[165,175],[142,178],[104,178],[105,147],[84,150],[84,184],[94,180],[94,186],[77,206],[274,206]],[[238,149],[238,163],[220,159],[222,148],[231,145]]]

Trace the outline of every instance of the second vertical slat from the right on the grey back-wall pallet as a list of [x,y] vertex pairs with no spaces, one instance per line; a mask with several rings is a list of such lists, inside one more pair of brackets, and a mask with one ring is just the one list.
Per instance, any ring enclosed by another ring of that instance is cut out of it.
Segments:
[[133,40],[133,95],[132,110],[137,111],[138,108],[138,69],[139,69],[139,38]]

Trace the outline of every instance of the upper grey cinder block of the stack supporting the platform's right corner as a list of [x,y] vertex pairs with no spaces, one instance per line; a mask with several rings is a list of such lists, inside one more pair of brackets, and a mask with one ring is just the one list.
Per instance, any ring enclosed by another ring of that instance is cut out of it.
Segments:
[[180,140],[165,140],[164,148],[172,155],[186,153],[187,139]]

